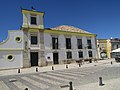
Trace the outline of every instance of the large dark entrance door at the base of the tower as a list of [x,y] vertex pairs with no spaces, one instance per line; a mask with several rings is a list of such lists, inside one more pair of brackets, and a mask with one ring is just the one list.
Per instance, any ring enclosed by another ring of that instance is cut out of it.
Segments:
[[31,66],[38,66],[38,52],[30,53]]

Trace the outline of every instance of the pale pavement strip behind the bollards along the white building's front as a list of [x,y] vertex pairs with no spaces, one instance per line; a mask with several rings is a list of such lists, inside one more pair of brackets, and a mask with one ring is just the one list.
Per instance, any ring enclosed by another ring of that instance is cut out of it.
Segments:
[[[82,65],[82,67],[90,67],[94,65],[102,65],[106,63],[110,63],[111,61],[114,61],[114,59],[110,60],[100,60],[97,62],[93,63],[85,63]],[[55,70],[63,70],[65,69],[66,65],[53,65]],[[72,63],[68,64],[68,68],[78,68],[79,65],[77,63]],[[34,73],[35,69],[38,68],[39,72],[45,72],[45,71],[51,71],[51,66],[45,66],[45,67],[31,67],[31,68],[22,68],[20,69],[21,73],[20,74],[26,74],[26,73]],[[5,76],[5,75],[17,75],[18,69],[10,69],[10,70],[0,70],[0,76]]]

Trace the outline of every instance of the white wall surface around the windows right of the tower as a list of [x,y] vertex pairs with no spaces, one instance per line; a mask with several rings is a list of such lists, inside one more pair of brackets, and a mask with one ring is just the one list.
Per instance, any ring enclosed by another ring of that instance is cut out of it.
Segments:
[[[71,51],[72,52],[72,59],[79,60],[79,54],[78,51],[83,51],[83,58],[88,59],[88,51],[92,51],[93,58],[96,57],[96,44],[95,44],[95,37],[85,37],[85,36],[71,36],[71,46],[72,49],[66,50],[66,41],[65,38],[67,36],[64,35],[58,35],[58,42],[59,42],[59,49],[53,50],[52,49],[52,37],[50,34],[45,33],[44,34],[44,44],[45,44],[45,55],[46,58],[49,56],[51,58],[51,61],[53,61],[53,52],[57,51],[59,53],[59,61],[60,60],[66,60],[66,52]],[[77,48],[77,38],[82,39],[83,49]],[[92,49],[87,49],[87,39],[91,39],[92,43]]]

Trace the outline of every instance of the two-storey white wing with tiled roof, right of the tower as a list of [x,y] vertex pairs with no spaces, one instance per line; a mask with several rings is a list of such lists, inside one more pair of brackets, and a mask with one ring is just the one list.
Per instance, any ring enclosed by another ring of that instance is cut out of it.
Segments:
[[[58,26],[45,30],[44,39],[48,63],[57,64],[64,63],[66,60],[97,58],[95,35],[81,29]],[[54,58],[56,54],[57,59]]]

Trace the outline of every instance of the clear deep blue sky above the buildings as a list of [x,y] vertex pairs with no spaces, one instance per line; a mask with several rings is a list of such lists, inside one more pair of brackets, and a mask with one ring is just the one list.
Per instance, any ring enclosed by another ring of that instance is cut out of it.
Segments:
[[22,26],[21,8],[45,12],[45,28],[78,27],[99,39],[120,38],[120,0],[0,0],[0,42]]

